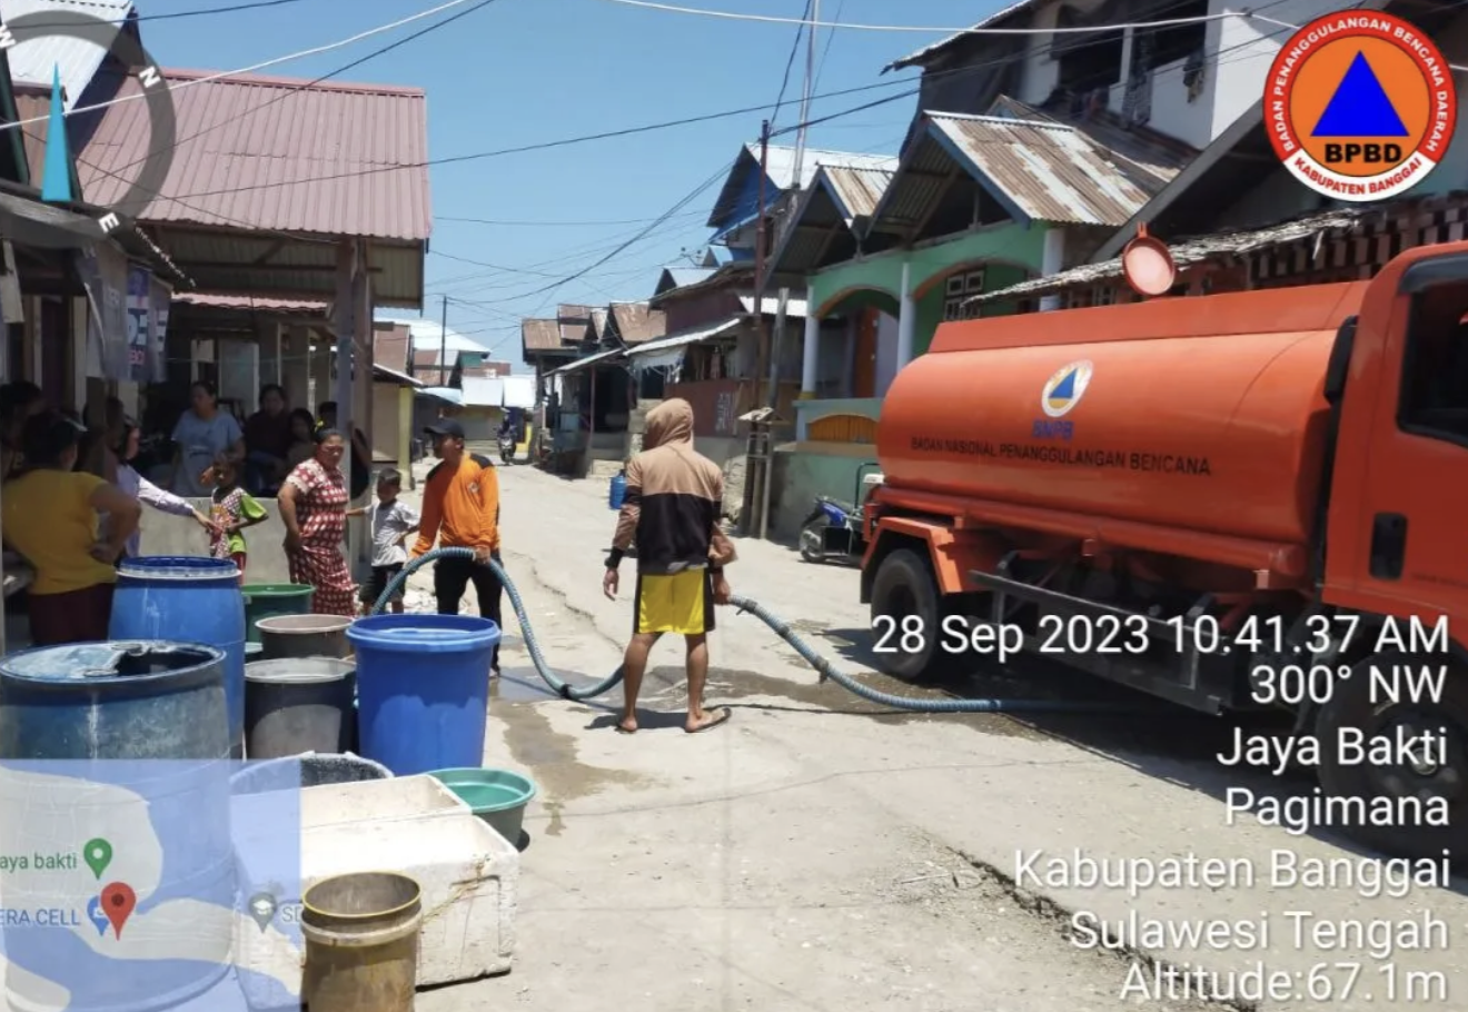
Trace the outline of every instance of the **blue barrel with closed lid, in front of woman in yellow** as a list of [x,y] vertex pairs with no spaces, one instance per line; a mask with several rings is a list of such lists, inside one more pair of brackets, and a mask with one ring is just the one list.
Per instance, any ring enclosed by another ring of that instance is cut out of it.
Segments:
[[172,639],[225,651],[232,755],[245,746],[245,598],[229,560],[142,555],[117,567],[112,639]]

